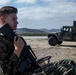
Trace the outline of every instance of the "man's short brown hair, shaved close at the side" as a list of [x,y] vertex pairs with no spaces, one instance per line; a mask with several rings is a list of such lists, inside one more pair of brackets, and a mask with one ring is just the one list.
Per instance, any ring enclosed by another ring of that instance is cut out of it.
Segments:
[[17,8],[15,8],[13,6],[4,6],[4,7],[0,8],[0,17],[9,15],[11,13],[17,14],[17,12],[18,12]]

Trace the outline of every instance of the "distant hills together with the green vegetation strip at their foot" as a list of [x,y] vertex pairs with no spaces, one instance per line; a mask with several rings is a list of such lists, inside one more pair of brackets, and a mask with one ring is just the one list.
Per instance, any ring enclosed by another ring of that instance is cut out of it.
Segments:
[[18,28],[16,30],[17,34],[24,35],[24,36],[44,36],[48,35],[51,32],[58,32],[59,29],[29,29],[29,28]]

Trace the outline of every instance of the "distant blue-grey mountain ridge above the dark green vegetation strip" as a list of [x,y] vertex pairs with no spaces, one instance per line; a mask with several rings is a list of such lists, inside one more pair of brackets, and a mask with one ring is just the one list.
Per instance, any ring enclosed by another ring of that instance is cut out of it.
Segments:
[[18,28],[16,30],[18,33],[51,33],[59,32],[60,29],[30,29],[30,28]]

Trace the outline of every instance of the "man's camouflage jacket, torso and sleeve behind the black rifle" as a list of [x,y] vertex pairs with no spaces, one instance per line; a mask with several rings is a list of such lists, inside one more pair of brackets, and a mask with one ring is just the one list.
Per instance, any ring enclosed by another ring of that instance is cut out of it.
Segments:
[[0,64],[4,75],[17,75],[19,58],[13,51],[13,42],[0,33]]

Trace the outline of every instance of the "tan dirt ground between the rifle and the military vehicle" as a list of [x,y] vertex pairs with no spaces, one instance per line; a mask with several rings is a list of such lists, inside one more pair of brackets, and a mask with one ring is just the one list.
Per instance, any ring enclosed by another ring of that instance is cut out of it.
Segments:
[[48,39],[25,39],[31,46],[38,59],[52,56],[51,62],[61,59],[72,59],[76,61],[76,42],[63,42],[61,45],[50,46]]

